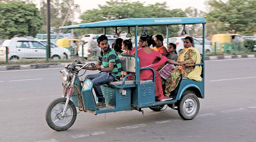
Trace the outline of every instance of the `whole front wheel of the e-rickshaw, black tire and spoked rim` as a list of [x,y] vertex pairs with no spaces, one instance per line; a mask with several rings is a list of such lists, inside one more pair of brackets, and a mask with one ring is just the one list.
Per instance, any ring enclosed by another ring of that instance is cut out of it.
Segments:
[[71,100],[69,100],[68,102],[66,116],[64,118],[59,116],[61,115],[61,112],[64,109],[65,102],[66,102],[66,98],[57,98],[53,100],[46,109],[45,119],[48,126],[53,130],[56,130],[56,131],[67,130],[76,121],[77,109],[75,104]]

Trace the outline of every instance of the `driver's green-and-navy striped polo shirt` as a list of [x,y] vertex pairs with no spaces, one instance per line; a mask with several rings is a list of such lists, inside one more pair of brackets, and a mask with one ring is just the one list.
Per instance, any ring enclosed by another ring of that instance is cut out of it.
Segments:
[[104,68],[108,68],[109,63],[114,62],[114,68],[109,73],[115,78],[116,81],[120,80],[121,62],[114,49],[109,47],[108,51],[104,55],[103,55],[103,52],[101,51],[101,54],[99,54],[98,62],[102,63]]

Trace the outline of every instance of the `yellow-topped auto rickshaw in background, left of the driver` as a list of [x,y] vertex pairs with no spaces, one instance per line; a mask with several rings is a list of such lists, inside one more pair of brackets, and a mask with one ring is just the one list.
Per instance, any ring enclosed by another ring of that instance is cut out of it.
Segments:
[[60,47],[65,47],[71,52],[71,56],[75,56],[75,48],[78,46],[80,39],[61,38],[56,41],[56,44]]

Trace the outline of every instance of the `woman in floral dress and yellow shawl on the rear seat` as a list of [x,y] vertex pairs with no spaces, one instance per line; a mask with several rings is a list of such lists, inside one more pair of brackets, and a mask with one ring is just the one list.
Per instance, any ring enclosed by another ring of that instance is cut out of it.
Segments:
[[[187,36],[183,40],[183,50],[180,52],[177,62],[186,61],[187,64],[200,64],[201,56],[199,51],[194,48],[194,40],[191,36]],[[183,77],[188,77],[196,81],[202,81],[202,66],[187,66],[183,69]],[[165,96],[170,97],[171,92],[177,87],[181,78],[179,68],[174,69],[165,82]]]

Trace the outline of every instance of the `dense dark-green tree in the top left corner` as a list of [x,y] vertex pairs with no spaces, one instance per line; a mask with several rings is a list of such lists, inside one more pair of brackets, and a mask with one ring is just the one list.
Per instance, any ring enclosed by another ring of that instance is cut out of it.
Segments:
[[42,24],[41,14],[33,3],[8,1],[0,5],[0,38],[35,37]]

